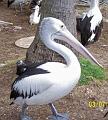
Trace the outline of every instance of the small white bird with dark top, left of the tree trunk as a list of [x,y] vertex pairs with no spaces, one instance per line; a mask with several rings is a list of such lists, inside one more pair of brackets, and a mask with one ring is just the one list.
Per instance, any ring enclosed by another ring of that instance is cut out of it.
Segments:
[[38,24],[40,21],[40,9],[41,9],[41,2],[42,0],[32,0],[30,4],[31,8],[31,15],[29,19],[29,23],[32,24]]

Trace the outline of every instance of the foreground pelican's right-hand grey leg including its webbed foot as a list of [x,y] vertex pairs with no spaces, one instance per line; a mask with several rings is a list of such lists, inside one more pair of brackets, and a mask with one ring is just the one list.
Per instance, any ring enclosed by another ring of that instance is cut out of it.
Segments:
[[50,103],[49,106],[51,107],[51,111],[53,113],[53,115],[51,115],[49,117],[50,120],[69,120],[69,115],[68,114],[58,113],[56,108],[54,107],[54,105],[52,103]]

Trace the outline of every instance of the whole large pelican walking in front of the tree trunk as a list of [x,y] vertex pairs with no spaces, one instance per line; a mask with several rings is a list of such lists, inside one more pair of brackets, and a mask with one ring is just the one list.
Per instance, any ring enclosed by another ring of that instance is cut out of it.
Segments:
[[12,84],[11,104],[22,106],[21,120],[30,120],[26,115],[29,105],[49,104],[54,120],[66,119],[65,114],[57,112],[53,102],[69,94],[80,79],[81,67],[75,54],[64,45],[57,43],[59,39],[70,44],[75,50],[95,64],[101,66],[88,50],[68,31],[61,20],[46,17],[39,27],[42,42],[51,50],[60,54],[66,64],[45,62],[37,67],[29,68],[19,75]]

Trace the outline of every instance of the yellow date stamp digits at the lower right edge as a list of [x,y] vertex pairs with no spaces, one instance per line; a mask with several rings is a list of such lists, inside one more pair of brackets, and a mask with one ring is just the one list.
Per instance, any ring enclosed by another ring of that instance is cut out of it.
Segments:
[[105,101],[89,101],[88,106],[90,108],[106,107],[106,106],[108,106],[108,102],[105,102]]

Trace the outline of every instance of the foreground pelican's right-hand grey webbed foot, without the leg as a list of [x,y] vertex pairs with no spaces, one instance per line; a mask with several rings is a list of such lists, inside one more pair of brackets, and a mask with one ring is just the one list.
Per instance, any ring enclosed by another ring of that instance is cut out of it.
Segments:
[[48,118],[49,120],[69,120],[69,115],[67,113],[58,113],[56,115],[51,115]]

